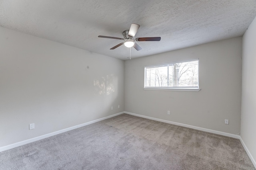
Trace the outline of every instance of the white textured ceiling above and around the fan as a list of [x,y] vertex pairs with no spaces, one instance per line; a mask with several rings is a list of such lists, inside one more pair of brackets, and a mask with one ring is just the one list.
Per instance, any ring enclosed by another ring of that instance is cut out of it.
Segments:
[[131,23],[138,42],[132,58],[242,36],[256,16],[256,0],[0,0],[0,25],[80,49],[126,60],[117,39]]

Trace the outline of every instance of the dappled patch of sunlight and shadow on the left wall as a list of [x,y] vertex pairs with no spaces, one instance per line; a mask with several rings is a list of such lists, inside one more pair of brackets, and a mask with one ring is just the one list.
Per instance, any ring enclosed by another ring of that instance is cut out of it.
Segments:
[[110,95],[115,92],[114,74],[106,75],[98,80],[94,80],[94,94],[95,95]]

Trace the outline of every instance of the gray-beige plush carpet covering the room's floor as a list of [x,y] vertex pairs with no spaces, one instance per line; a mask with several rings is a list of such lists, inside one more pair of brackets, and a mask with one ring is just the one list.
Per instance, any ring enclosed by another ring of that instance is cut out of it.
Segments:
[[0,152],[0,170],[255,170],[238,139],[122,114]]

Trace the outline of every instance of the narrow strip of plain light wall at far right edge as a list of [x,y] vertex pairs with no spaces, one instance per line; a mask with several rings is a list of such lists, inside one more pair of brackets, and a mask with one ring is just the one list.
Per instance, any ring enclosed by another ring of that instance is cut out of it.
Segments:
[[243,36],[241,138],[256,166],[256,18]]

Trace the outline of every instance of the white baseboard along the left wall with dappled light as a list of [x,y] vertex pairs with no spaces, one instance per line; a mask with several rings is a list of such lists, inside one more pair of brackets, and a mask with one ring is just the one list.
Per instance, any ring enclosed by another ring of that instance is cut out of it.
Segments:
[[14,143],[14,144],[11,144],[11,145],[7,145],[7,146],[4,146],[4,147],[0,147],[0,152],[4,151],[4,150],[8,150],[8,149],[12,149],[12,148],[15,148],[15,147],[19,147],[21,145],[25,145],[25,144],[28,144],[28,143],[31,143],[31,142],[35,142],[35,141],[39,141],[41,139],[44,139],[44,138],[47,138],[47,137],[51,137],[51,136],[54,136],[54,135],[58,135],[60,133],[64,133],[66,131],[70,131],[70,130],[73,130],[73,129],[77,129],[79,127],[83,127],[83,126],[86,126],[86,125],[90,125],[92,123],[96,123],[98,121],[102,121],[102,120],[105,120],[105,119],[109,119],[110,117],[114,117],[114,116],[117,116],[117,115],[120,115],[124,112],[120,112],[120,113],[116,113],[114,115],[110,115],[110,116],[107,116],[107,117],[102,117],[100,119],[97,119],[97,120],[93,120],[93,121],[89,121],[89,122],[86,122],[86,123],[82,123],[80,125],[76,125],[76,126],[72,126],[72,127],[68,127],[66,129],[62,129],[60,131],[56,131],[56,132],[52,132],[52,133],[48,133],[46,135],[42,135],[42,136],[39,136],[39,137],[34,137],[32,139],[28,139],[28,140],[25,140],[25,141],[21,141],[21,142],[18,142],[18,143]]

